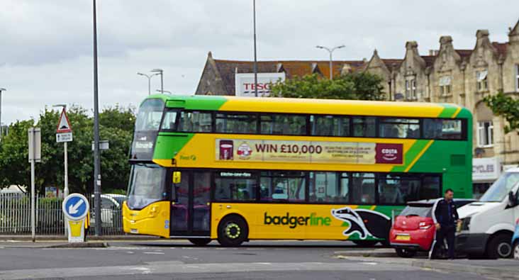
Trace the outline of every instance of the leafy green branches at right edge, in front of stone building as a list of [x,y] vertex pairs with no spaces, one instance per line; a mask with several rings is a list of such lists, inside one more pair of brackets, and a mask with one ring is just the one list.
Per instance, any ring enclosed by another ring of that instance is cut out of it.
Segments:
[[503,94],[503,91],[493,96],[485,96],[483,101],[497,116],[502,116],[508,122],[505,133],[518,130],[519,133],[519,99]]

